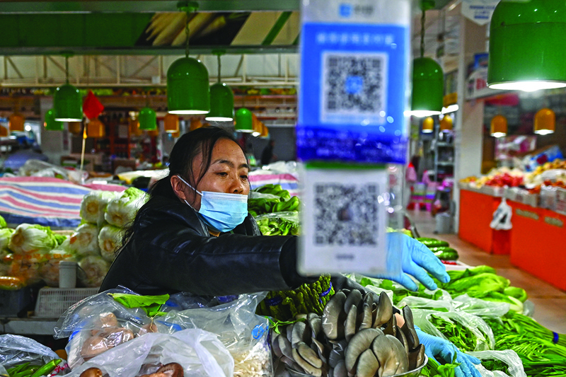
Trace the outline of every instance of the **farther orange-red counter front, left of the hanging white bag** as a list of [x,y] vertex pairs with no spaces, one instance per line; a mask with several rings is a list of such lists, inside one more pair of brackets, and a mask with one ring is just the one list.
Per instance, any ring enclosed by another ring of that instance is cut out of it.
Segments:
[[500,197],[461,189],[458,236],[487,253],[509,254],[510,231],[490,228],[493,212],[499,203]]

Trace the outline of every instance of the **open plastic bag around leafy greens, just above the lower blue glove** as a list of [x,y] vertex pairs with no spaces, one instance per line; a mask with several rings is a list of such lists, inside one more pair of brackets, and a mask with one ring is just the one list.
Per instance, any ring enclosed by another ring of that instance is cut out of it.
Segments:
[[436,315],[449,323],[455,324],[458,327],[466,327],[476,338],[473,351],[486,351],[493,349],[495,346],[495,338],[491,327],[485,323],[483,319],[476,315],[468,314],[461,311],[428,311],[423,309],[412,309],[412,315],[415,320],[415,325],[427,334],[441,337],[449,340],[444,334],[434,326],[430,319],[432,315]]

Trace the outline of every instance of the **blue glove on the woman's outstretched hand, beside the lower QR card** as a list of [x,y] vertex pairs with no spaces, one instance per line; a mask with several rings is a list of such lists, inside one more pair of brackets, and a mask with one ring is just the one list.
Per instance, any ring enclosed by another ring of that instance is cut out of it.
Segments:
[[411,291],[417,291],[419,286],[412,281],[409,275],[431,290],[438,287],[427,271],[443,283],[450,281],[449,274],[446,274],[446,267],[438,257],[414,238],[398,232],[387,233],[387,248],[388,253],[399,253],[400,251],[402,272],[396,276],[378,275],[376,277],[393,280]]

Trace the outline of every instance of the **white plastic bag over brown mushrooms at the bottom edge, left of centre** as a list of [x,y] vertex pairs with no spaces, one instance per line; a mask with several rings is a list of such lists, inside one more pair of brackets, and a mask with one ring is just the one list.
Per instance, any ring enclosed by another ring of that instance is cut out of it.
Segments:
[[199,329],[187,329],[175,334],[147,334],[120,344],[67,374],[78,377],[88,368],[96,367],[110,377],[134,377],[139,372],[153,373],[160,364],[176,362],[183,366],[185,376],[233,376],[233,359],[216,335]]

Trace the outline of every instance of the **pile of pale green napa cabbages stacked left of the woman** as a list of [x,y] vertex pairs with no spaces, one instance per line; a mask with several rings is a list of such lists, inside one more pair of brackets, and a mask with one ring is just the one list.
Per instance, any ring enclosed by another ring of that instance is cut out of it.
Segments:
[[[78,263],[83,286],[100,286],[114,260],[122,229],[134,220],[144,202],[145,193],[134,187],[122,194],[89,192],[81,202],[83,223],[70,236],[35,224],[0,228],[0,276],[11,277],[3,279],[4,288],[19,289],[41,281],[58,286],[62,260]],[[4,219],[0,226],[6,226]]]

